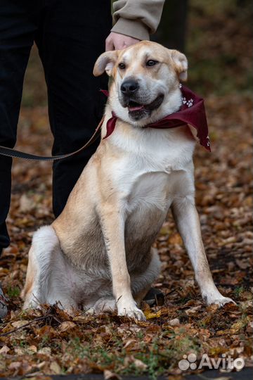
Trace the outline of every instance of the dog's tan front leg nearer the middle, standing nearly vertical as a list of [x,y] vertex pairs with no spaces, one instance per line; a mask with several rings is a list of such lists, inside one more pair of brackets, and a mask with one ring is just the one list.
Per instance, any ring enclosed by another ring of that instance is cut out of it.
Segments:
[[105,204],[99,210],[100,224],[112,274],[112,291],[118,315],[145,320],[145,315],[136,306],[131,293],[131,279],[126,265],[124,244],[124,211],[115,204]]

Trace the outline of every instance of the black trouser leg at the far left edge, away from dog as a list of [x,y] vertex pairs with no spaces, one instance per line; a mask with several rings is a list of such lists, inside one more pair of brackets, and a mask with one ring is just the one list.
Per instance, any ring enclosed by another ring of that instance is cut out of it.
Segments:
[[[1,0],[0,145],[15,145],[22,84],[36,29],[31,1]],[[6,217],[11,199],[11,158],[0,156],[0,251],[9,245]]]

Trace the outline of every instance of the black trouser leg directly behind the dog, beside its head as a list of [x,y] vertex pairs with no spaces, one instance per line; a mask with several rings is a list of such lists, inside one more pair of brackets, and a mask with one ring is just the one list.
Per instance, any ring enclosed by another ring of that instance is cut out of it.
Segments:
[[[93,77],[96,58],[105,50],[112,24],[110,0],[48,1],[37,45],[48,87],[48,113],[54,136],[53,155],[80,148],[103,115],[107,77]],[[84,166],[93,144],[72,158],[53,164],[53,212],[58,216]],[[85,196],[85,194],[84,194]]]

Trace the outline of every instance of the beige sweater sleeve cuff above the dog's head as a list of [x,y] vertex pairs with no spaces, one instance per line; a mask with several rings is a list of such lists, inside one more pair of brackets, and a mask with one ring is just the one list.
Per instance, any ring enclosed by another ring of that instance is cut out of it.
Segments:
[[160,23],[165,0],[117,0],[113,3],[112,32],[149,39]]

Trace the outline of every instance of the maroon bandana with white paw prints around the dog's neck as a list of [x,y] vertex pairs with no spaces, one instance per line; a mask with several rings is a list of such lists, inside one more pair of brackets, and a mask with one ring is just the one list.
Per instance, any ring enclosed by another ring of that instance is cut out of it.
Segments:
[[[208,136],[207,116],[205,113],[204,100],[197,96],[188,87],[180,84],[183,105],[180,110],[171,115],[165,116],[165,118],[154,122],[153,124],[145,125],[143,128],[176,128],[182,125],[193,125],[197,129],[197,138],[200,141],[200,145],[204,146],[207,151],[211,151],[210,140]],[[109,95],[108,91],[101,90],[106,96]],[[117,122],[117,115],[112,111],[112,118],[110,118],[106,124],[106,137],[115,129]]]

